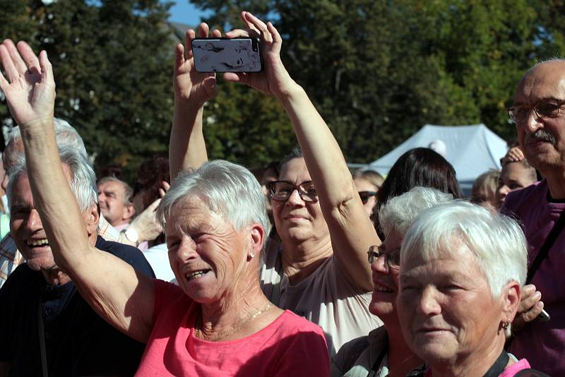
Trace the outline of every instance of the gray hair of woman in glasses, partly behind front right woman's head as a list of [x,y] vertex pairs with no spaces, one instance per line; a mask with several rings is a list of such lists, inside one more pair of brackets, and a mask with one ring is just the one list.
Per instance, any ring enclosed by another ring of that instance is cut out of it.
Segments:
[[379,221],[385,237],[392,231],[404,238],[412,222],[423,210],[453,201],[451,193],[435,188],[416,186],[407,193],[391,198],[379,210]]

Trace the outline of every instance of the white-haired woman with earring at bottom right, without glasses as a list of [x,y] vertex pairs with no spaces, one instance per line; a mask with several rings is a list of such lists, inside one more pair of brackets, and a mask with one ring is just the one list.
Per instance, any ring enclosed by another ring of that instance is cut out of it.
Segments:
[[400,251],[398,314],[425,376],[515,376],[504,351],[526,275],[526,241],[504,215],[465,202],[425,210]]

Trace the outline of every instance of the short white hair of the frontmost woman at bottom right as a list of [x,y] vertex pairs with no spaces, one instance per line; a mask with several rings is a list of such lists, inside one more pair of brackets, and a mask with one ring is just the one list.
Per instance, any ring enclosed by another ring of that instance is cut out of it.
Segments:
[[493,298],[511,281],[524,285],[528,244],[521,227],[510,217],[465,201],[436,205],[417,217],[404,238],[400,267],[418,258],[428,262],[452,255],[453,239],[468,246]]

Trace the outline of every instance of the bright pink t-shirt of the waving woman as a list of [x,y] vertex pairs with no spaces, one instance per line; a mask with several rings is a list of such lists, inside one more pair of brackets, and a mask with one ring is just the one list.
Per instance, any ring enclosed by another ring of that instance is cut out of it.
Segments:
[[291,311],[257,333],[208,342],[194,337],[200,304],[155,281],[153,330],[136,376],[328,376],[323,331]]

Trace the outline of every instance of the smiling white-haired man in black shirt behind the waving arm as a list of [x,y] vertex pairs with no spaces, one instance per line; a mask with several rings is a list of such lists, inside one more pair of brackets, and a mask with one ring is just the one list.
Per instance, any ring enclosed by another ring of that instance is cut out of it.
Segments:
[[[97,234],[95,174],[85,157],[76,148],[63,148],[59,157],[90,243],[154,277],[140,251]],[[133,375],[144,345],[97,316],[54,263],[23,158],[12,166],[7,193],[11,235],[26,263],[0,289],[0,322],[9,324],[0,336],[0,376]]]

